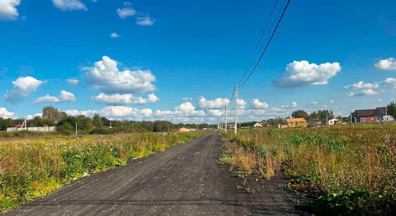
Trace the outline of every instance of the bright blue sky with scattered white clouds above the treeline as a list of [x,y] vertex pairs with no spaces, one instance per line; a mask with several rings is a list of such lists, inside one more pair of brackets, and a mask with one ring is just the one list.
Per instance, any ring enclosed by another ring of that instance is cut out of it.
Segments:
[[[274,4],[0,0],[0,116],[53,105],[70,115],[215,123]],[[238,91],[241,120],[394,100],[395,6],[292,0]]]

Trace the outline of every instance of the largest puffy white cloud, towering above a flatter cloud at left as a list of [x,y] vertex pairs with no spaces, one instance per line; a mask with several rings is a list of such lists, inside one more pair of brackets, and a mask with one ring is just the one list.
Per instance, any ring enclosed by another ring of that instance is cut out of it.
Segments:
[[151,83],[156,81],[151,71],[119,71],[117,62],[108,56],[97,61],[92,67],[84,67],[87,83],[105,93],[137,93],[155,90]]

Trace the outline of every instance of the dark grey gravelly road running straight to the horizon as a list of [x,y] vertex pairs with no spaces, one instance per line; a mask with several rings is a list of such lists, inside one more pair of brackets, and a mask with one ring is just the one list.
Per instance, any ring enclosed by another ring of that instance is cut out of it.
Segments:
[[300,197],[279,187],[285,177],[258,181],[264,187],[256,193],[237,189],[242,179],[216,162],[221,144],[213,132],[80,178],[5,215],[308,214]]

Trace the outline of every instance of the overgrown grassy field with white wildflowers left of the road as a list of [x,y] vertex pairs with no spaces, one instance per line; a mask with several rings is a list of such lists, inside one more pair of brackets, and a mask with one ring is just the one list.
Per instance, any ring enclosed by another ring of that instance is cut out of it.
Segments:
[[0,140],[0,211],[209,131]]

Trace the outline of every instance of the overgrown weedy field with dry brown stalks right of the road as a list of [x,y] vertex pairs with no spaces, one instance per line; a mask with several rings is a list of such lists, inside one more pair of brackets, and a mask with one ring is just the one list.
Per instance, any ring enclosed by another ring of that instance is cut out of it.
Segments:
[[[396,124],[221,132],[220,161],[241,175],[286,174],[284,187],[316,199],[321,214],[389,215],[396,209]],[[257,173],[257,174],[256,174]]]

